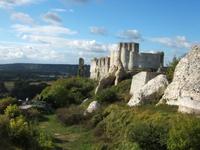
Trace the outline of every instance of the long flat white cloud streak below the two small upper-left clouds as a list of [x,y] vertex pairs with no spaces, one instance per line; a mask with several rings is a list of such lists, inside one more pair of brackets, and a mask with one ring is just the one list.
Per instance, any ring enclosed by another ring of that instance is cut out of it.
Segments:
[[59,35],[74,35],[77,31],[70,30],[61,26],[44,25],[44,26],[28,26],[16,24],[12,28],[20,35],[33,34],[33,35],[48,35],[48,36],[59,36]]

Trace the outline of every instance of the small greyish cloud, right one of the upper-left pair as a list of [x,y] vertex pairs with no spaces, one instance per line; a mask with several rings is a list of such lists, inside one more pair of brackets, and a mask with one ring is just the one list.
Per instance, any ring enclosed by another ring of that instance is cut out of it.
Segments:
[[62,19],[58,16],[55,12],[47,12],[42,16],[44,21],[51,23],[51,24],[61,24]]

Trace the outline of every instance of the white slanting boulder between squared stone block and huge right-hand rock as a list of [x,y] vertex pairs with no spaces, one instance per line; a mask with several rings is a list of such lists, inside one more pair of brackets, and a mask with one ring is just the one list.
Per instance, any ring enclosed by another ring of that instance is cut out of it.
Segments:
[[168,86],[168,81],[165,75],[158,75],[147,84],[145,84],[139,91],[134,92],[134,95],[128,102],[129,106],[138,106],[158,100]]

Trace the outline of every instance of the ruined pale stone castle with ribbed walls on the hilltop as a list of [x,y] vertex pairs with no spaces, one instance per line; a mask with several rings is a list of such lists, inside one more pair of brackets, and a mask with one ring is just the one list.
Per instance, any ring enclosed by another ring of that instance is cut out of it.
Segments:
[[126,72],[135,68],[158,70],[163,67],[164,53],[139,53],[139,43],[119,43],[110,57],[94,58],[90,66],[90,78],[100,79],[109,74],[111,68],[122,64]]

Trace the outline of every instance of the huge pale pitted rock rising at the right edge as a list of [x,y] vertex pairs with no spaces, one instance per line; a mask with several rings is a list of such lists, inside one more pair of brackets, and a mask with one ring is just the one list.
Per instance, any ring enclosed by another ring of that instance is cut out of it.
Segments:
[[160,103],[164,102],[200,110],[200,46],[194,46],[176,66],[174,79]]

